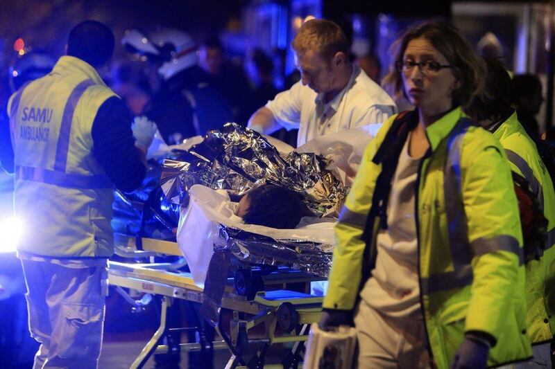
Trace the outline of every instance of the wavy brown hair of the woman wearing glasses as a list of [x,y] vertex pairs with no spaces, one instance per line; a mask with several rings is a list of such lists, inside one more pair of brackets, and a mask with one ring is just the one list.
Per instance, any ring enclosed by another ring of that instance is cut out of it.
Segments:
[[[427,39],[453,66],[452,72],[459,80],[459,88],[453,91],[453,104],[466,107],[484,88],[484,75],[486,75],[484,60],[452,24],[445,21],[426,21],[410,26],[395,41],[392,46],[395,63],[402,60],[409,42],[418,38]],[[393,86],[395,94],[400,95],[403,89],[402,75],[394,65],[384,78],[384,84]]]

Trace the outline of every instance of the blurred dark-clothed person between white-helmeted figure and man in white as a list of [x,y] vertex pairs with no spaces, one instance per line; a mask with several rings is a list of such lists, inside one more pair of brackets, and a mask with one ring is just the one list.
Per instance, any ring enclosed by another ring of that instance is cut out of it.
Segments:
[[241,68],[228,62],[219,39],[212,37],[200,45],[200,67],[207,80],[228,100],[235,123],[245,126],[248,120],[248,81]]

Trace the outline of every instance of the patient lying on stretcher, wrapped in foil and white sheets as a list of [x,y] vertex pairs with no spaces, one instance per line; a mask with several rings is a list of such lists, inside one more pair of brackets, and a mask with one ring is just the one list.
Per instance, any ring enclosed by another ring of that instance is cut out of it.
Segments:
[[[164,154],[152,189],[127,201],[144,202],[148,210],[134,223],[139,232],[128,229],[125,217],[123,233],[175,240],[199,287],[211,275],[227,276],[230,263],[327,278],[336,215],[370,138],[353,129],[293,151],[225,125]],[[124,210],[119,213],[126,215]],[[211,261],[224,254],[228,266],[220,263],[210,274]]]

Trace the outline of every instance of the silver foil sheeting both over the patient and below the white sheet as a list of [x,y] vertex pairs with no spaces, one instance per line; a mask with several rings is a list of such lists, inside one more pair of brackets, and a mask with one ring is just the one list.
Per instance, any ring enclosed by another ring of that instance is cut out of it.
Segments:
[[[160,186],[173,204],[187,206],[194,184],[244,195],[259,184],[272,183],[298,192],[316,214],[336,214],[346,189],[325,165],[323,156],[316,154],[291,152],[282,157],[257,132],[228,123],[208,132],[190,150],[173,152],[165,159]],[[290,267],[327,278],[332,249],[332,245],[274,240],[219,224],[205,280],[203,316],[217,323],[223,285],[233,269]]]

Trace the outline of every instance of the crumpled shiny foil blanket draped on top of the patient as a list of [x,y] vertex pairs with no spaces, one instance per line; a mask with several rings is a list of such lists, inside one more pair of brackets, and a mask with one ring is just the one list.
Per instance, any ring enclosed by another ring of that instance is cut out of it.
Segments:
[[325,165],[323,156],[310,153],[282,158],[257,132],[227,123],[187,152],[165,159],[160,186],[169,201],[185,206],[194,184],[244,195],[261,183],[273,183],[303,195],[315,213],[337,214],[346,190]]

